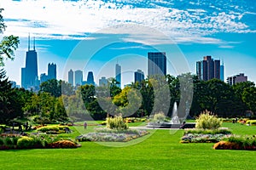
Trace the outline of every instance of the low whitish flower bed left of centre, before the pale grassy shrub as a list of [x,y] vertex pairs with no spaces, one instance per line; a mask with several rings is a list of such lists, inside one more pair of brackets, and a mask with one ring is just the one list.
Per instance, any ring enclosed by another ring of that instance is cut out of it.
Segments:
[[76,139],[82,141],[95,142],[127,142],[132,139],[137,139],[148,134],[146,130],[112,130],[112,129],[97,129],[97,132],[86,133],[78,136]]

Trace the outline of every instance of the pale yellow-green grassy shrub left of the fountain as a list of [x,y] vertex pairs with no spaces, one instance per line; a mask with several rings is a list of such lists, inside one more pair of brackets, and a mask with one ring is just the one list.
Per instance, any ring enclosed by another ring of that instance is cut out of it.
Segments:
[[111,129],[128,129],[128,124],[124,122],[121,115],[114,117],[107,117],[107,127]]

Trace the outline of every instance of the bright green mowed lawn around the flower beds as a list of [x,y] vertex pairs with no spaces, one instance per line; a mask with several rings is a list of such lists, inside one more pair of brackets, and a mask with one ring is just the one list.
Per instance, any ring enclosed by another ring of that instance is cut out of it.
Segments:
[[[131,126],[131,125],[130,125]],[[236,134],[255,134],[256,127],[224,123]],[[93,131],[74,127],[74,138]],[[183,130],[157,130],[138,144],[108,147],[82,142],[78,149],[1,150],[0,169],[255,169],[256,152],[213,150],[213,144],[180,144]]]

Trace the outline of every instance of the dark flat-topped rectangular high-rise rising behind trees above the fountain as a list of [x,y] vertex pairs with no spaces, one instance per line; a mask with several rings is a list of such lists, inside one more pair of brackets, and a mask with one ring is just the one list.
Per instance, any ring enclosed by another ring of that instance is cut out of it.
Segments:
[[148,77],[154,75],[166,76],[166,53],[150,52],[148,53]]

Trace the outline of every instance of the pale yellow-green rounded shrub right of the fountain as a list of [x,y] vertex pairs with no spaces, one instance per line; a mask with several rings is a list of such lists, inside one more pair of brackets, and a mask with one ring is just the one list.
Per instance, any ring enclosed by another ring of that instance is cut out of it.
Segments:
[[210,111],[204,111],[201,113],[198,119],[195,120],[196,128],[205,129],[218,129],[221,127],[222,122],[218,119],[217,116],[213,116]]

